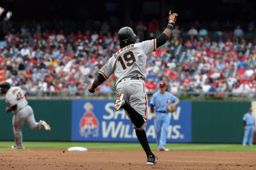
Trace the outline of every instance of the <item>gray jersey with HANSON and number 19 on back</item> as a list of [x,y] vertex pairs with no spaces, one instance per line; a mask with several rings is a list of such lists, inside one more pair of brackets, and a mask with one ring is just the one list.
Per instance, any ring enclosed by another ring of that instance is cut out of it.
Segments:
[[138,77],[146,79],[147,55],[156,50],[156,39],[142,41],[119,49],[99,73],[108,79],[115,74],[116,85],[124,78]]

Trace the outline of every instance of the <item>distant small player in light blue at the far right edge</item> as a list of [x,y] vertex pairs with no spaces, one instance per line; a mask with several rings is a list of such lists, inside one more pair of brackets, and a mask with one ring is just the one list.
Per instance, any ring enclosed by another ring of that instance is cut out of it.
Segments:
[[244,140],[243,146],[246,146],[248,138],[249,138],[249,146],[252,147],[253,142],[253,134],[255,129],[255,116],[252,114],[252,108],[249,108],[248,113],[244,114]]

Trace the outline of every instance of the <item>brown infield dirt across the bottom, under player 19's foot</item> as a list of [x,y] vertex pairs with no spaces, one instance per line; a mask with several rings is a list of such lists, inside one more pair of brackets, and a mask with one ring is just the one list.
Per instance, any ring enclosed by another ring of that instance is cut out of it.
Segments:
[[157,165],[146,165],[143,150],[36,149],[0,152],[0,169],[256,169],[256,152],[153,151]]

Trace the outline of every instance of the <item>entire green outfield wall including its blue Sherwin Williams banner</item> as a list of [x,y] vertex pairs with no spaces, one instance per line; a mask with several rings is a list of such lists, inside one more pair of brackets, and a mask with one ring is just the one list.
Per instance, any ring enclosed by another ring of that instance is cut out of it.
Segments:
[[[114,100],[29,100],[36,121],[45,120],[51,132],[32,131],[25,124],[23,140],[137,142],[123,109],[115,113]],[[149,102],[150,103],[150,102]],[[180,101],[171,116],[167,142],[241,143],[242,117],[249,101]],[[0,140],[13,140],[12,113],[0,100]],[[155,142],[154,121],[147,108],[146,133]]]

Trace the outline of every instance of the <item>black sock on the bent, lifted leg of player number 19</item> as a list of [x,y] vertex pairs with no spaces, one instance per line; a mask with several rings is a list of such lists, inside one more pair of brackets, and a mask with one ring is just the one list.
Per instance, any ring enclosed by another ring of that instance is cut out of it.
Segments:
[[135,111],[135,109],[125,101],[125,104],[123,106],[125,111],[129,114],[132,123],[136,128],[140,128],[144,124],[143,117]]

